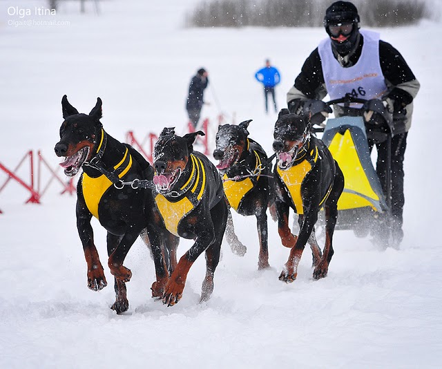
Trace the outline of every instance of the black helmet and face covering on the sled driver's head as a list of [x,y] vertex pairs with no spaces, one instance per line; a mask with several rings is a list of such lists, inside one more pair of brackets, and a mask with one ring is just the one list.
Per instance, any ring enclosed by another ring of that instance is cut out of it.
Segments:
[[[325,11],[324,26],[329,37],[332,38],[332,46],[340,55],[347,55],[353,48],[356,48],[359,36],[359,23],[361,19],[358,9],[349,1],[336,1]],[[345,41],[334,39],[329,26],[337,26],[343,23],[352,23],[352,32]]]

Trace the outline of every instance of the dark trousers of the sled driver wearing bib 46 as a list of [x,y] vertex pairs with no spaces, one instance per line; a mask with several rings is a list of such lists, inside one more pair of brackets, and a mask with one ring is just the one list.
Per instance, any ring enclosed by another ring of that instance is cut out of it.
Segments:
[[[407,147],[407,132],[395,135],[392,138],[392,217],[393,231],[402,234],[403,205],[405,202],[403,194],[403,160]],[[369,140],[370,150],[374,146]],[[376,162],[376,173],[384,193],[387,191],[387,142],[376,144],[378,160]]]

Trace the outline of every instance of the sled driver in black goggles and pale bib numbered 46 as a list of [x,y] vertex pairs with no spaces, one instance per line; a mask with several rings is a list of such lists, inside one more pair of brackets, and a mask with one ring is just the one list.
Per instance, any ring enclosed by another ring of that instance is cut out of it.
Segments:
[[[394,118],[392,137],[392,227],[396,243],[403,238],[403,160],[411,126],[413,100],[420,84],[405,59],[376,32],[360,30],[358,10],[349,1],[336,1],[325,12],[327,37],[306,59],[294,86],[287,93],[291,113],[302,114],[312,100],[331,100],[349,94],[364,100],[381,100]],[[307,102],[307,104],[306,104]],[[370,115],[355,106],[354,115]],[[320,113],[318,113],[319,115]],[[336,116],[343,115],[339,105]],[[325,120],[325,112],[320,120]],[[373,147],[374,142],[369,141]],[[387,144],[376,144],[376,172],[387,189]]]

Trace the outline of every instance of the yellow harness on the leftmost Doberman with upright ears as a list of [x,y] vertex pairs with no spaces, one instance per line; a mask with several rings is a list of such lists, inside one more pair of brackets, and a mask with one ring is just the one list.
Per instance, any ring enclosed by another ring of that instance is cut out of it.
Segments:
[[[118,174],[119,178],[122,178],[132,167],[132,156],[128,153],[128,149],[126,149],[126,153],[124,154],[124,158],[121,162],[115,165],[115,170],[120,170],[121,172]],[[93,178],[88,176],[86,173],[82,174],[81,177],[81,187],[83,190],[84,200],[86,202],[86,206],[90,211],[90,214],[95,216],[95,218],[99,219],[98,216],[98,207],[99,202],[102,199],[104,193],[111,187],[113,184],[111,180],[108,180],[104,174],[97,178]]]

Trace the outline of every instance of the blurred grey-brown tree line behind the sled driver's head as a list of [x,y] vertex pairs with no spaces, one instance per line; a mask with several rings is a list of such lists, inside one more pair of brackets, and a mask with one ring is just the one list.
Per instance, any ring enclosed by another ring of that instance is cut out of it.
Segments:
[[[334,0],[204,0],[186,16],[189,27],[318,27]],[[424,0],[353,0],[368,27],[408,26],[434,17]]]

